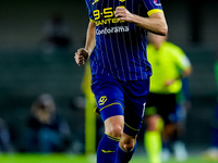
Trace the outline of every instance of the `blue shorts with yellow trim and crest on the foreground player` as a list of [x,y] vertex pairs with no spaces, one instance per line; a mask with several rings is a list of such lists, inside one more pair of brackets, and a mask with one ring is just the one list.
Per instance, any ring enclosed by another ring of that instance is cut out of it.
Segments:
[[123,115],[123,131],[131,136],[138,134],[149,92],[149,78],[121,82],[108,74],[94,75],[92,90],[104,122],[108,117]]

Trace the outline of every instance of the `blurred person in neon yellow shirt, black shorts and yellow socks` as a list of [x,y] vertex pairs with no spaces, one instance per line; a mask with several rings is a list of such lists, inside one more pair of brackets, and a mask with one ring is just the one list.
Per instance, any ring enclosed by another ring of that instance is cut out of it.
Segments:
[[145,112],[144,142],[149,163],[160,163],[161,149],[169,150],[168,143],[179,129],[177,109],[181,108],[177,97],[182,89],[181,79],[191,74],[191,63],[179,47],[166,41],[167,37],[149,34],[148,38],[153,76]]

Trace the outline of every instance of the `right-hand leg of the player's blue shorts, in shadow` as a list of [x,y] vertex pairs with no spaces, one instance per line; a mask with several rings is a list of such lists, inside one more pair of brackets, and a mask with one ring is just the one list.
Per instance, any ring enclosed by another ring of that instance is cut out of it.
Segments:
[[148,91],[149,79],[131,82],[125,87],[124,133],[129,136],[136,136],[142,127]]

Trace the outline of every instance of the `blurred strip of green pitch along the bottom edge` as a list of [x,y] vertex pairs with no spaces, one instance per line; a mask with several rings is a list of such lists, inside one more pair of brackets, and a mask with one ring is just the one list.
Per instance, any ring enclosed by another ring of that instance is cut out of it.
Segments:
[[[202,156],[191,156],[179,162],[171,159],[165,163],[216,163]],[[96,155],[76,154],[0,154],[0,163],[96,163]],[[148,163],[145,155],[135,154],[130,163]]]

